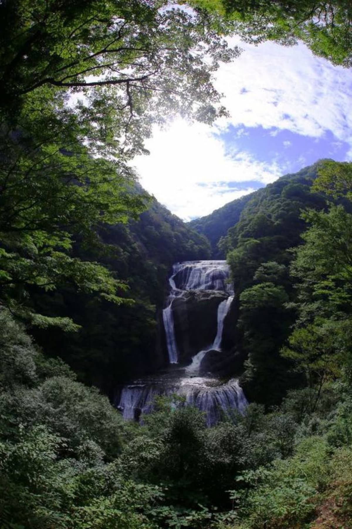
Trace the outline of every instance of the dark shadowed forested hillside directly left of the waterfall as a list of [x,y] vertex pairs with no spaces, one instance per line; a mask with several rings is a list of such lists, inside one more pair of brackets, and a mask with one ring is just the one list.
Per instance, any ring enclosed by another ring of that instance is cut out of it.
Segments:
[[101,225],[93,243],[75,249],[80,258],[106,266],[123,281],[127,290],[121,296],[127,303],[116,305],[67,286],[52,294],[33,293],[41,314],[66,315],[80,325],[75,332],[31,327],[37,343],[68,362],[80,380],[109,394],[119,382],[165,365],[158,336],[169,270],[177,261],[210,257],[202,235],[154,198],[147,204],[138,220]]

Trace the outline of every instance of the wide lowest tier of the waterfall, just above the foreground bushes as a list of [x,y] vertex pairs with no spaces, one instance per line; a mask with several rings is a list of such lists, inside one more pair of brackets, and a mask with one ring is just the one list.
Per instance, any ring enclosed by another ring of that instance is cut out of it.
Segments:
[[125,419],[138,420],[153,410],[155,397],[175,393],[185,397],[186,404],[204,412],[208,426],[233,410],[243,413],[248,404],[236,379],[223,384],[215,378],[166,376],[137,380],[124,386],[115,405]]

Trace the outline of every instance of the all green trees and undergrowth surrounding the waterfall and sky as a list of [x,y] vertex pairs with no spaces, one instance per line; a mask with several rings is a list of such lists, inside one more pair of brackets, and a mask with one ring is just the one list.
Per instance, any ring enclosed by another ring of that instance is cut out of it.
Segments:
[[351,527],[350,163],[243,199],[221,242],[243,416],[173,397],[130,424],[82,383],[146,369],[170,264],[210,254],[129,161],[154,123],[224,114],[224,35],[350,65],[344,0],[192,4],[0,2],[1,529]]

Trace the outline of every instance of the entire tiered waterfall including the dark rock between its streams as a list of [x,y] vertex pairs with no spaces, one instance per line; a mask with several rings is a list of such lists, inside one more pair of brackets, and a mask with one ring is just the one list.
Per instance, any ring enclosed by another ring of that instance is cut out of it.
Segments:
[[[175,263],[169,286],[163,310],[168,366],[123,386],[115,405],[125,419],[139,419],[152,411],[155,397],[177,394],[205,413],[208,426],[233,410],[242,413],[248,403],[238,381],[231,378],[225,382],[206,363],[208,353],[221,351],[224,323],[233,300],[229,266],[225,261]],[[192,334],[197,335],[196,341]],[[198,351],[196,344],[202,345]]]

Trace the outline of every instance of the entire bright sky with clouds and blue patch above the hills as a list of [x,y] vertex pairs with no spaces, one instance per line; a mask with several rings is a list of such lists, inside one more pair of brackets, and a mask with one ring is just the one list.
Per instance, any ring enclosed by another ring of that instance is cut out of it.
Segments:
[[141,185],[185,221],[321,158],[352,160],[351,70],[303,44],[240,45],[216,74],[230,117],[155,129],[134,160]]

